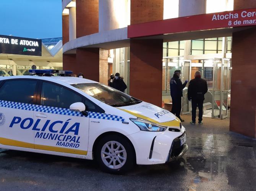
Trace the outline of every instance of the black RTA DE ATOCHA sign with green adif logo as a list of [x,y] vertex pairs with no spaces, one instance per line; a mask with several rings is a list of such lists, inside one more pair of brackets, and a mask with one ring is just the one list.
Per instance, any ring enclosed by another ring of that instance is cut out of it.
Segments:
[[0,53],[42,56],[42,40],[0,35]]

